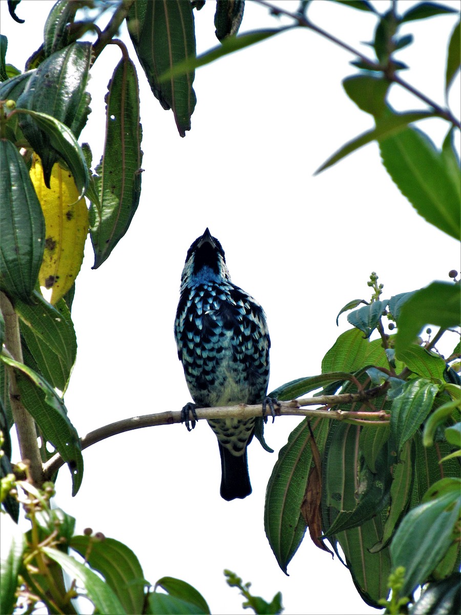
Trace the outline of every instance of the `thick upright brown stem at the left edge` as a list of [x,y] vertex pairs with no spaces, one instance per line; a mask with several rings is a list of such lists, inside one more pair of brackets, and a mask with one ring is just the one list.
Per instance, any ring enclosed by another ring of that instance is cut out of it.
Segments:
[[[5,346],[13,359],[23,363],[21,336],[18,315],[4,293],[0,292],[0,309],[5,320]],[[12,368],[5,366],[8,375],[8,394],[13,414],[19,450],[23,462],[29,460],[29,470],[33,484],[42,486],[42,460],[37,444],[37,432],[34,419],[21,403],[21,395],[16,384],[16,376]]]

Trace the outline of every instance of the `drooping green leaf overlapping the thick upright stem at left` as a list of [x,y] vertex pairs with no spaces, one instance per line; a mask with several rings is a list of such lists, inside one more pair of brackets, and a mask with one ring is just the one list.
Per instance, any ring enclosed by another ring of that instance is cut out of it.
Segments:
[[22,403],[44,434],[68,464],[72,476],[72,494],[80,488],[83,458],[79,435],[69,421],[63,400],[44,378],[34,370],[1,355],[1,360],[16,370],[16,381]]

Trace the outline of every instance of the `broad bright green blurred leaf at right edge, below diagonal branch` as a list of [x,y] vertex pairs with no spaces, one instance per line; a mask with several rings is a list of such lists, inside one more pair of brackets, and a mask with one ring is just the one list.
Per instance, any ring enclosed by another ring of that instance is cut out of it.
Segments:
[[406,128],[379,143],[382,162],[392,180],[431,224],[460,237],[460,175],[457,181],[444,156],[416,128]]

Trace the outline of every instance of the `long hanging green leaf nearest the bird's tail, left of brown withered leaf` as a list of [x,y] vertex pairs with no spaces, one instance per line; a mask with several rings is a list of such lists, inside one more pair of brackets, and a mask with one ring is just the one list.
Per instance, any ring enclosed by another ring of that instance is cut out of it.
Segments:
[[[318,419],[312,425],[315,442],[323,450],[328,422]],[[309,470],[312,465],[310,431],[307,420],[291,432],[280,450],[267,483],[264,505],[264,529],[278,565],[286,574],[286,566],[296,553],[306,529],[301,515]]]

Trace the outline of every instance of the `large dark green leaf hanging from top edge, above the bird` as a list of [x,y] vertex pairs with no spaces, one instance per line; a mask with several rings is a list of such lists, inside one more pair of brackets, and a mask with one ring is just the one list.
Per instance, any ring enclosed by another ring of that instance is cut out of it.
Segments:
[[173,109],[181,137],[191,130],[195,108],[193,69],[185,74],[160,75],[176,63],[195,58],[195,30],[189,0],[149,2],[138,0],[128,12],[128,31],[154,96],[164,109]]

